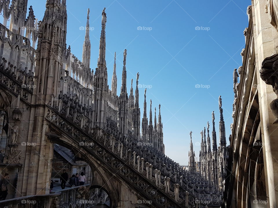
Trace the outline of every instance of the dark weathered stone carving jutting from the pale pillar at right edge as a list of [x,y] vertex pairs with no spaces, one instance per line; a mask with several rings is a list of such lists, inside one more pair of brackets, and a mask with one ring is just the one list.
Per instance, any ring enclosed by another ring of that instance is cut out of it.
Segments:
[[[261,79],[272,86],[273,91],[278,96],[278,54],[264,59],[260,70]],[[272,124],[278,124],[278,98],[270,103],[270,109],[275,116]]]

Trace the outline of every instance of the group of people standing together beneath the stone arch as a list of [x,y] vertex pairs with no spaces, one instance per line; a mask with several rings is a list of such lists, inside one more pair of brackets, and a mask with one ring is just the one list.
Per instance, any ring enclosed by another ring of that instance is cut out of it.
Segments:
[[[60,177],[62,189],[65,188],[67,180],[68,180],[68,174],[66,173],[66,170],[64,169],[63,173],[61,174],[61,177]],[[75,175],[73,174],[72,177],[69,178],[69,186],[74,187],[74,186],[84,185],[85,181],[86,181],[86,177],[84,175],[84,172],[81,172],[80,175],[78,173],[76,173]]]

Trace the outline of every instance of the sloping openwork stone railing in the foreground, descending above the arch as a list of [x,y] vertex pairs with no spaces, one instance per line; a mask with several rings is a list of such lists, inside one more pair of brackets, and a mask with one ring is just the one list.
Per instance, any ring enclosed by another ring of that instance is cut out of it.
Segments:
[[[62,103],[62,102],[59,102]],[[113,135],[107,135],[99,128],[83,129],[82,122],[73,122],[74,115],[61,112],[63,107],[47,109],[46,119],[55,124],[62,133],[67,134],[94,157],[103,161],[103,164],[113,168],[118,176],[125,179],[131,187],[139,190],[146,198],[152,200],[158,207],[187,207],[193,206],[196,199],[205,201],[200,207],[219,207],[220,194],[199,194],[191,184],[180,182],[167,177],[165,172],[153,170],[153,165],[144,162],[144,158],[132,153],[127,145],[116,140]],[[89,144],[89,145],[86,145]],[[165,169],[164,169],[165,170]],[[186,184],[186,185],[184,185]],[[187,189],[187,190],[186,190]],[[198,201],[197,200],[197,201]],[[188,204],[188,205],[187,205]]]

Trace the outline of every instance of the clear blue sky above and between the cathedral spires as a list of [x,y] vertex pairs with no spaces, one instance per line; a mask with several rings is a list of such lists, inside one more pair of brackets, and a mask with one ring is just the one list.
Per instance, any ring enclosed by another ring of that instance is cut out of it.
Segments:
[[[28,7],[33,6],[39,20],[43,18],[45,2],[28,1]],[[116,51],[119,94],[123,51],[127,49],[127,91],[130,80],[136,80],[139,72],[141,114],[147,88],[147,115],[150,99],[153,117],[154,107],[158,109],[161,104],[166,155],[181,165],[188,164],[189,132],[193,132],[193,146],[199,158],[200,131],[209,121],[211,137],[213,110],[219,144],[219,95],[222,95],[228,142],[233,69],[242,65],[240,52],[245,45],[243,31],[248,27],[246,8],[250,4],[251,1],[242,0],[67,0],[67,45],[81,60],[85,30],[80,28],[86,26],[90,8],[91,68],[95,69],[101,12],[106,7],[109,87]]]

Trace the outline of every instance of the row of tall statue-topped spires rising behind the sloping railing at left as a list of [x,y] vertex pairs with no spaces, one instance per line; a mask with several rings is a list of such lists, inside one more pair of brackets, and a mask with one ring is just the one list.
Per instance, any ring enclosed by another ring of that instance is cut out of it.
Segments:
[[[82,64],[90,67],[91,43],[89,39],[89,12],[87,12],[87,24],[85,32],[85,40],[83,44]],[[133,79],[131,79],[130,93],[127,93],[127,49],[123,52],[123,68],[120,95],[117,95],[117,74],[116,74],[116,52],[114,54],[114,67],[111,79],[111,90],[107,85],[107,67],[105,60],[106,28],[107,16],[105,8],[102,11],[101,18],[101,34],[99,44],[98,64],[94,75],[93,83],[93,104],[92,104],[92,126],[101,128],[111,128],[118,131],[118,134],[126,141],[134,139],[138,144],[148,145],[155,148],[161,153],[165,152],[163,144],[163,125],[161,121],[161,112],[159,105],[158,122],[155,118],[153,124],[152,101],[150,100],[149,118],[147,117],[147,89],[144,94],[144,111],[142,124],[140,120],[139,107],[139,89],[138,80],[139,73],[136,78],[135,95],[133,94]]]

